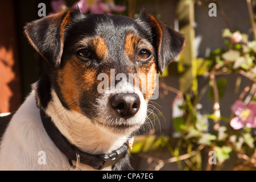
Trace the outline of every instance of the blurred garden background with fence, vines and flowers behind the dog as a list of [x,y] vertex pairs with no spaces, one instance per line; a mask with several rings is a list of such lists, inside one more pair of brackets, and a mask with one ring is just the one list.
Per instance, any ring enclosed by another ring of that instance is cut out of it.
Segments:
[[39,3],[46,15],[77,3],[84,14],[131,18],[144,8],[185,36],[184,52],[159,77],[159,98],[137,131],[135,169],[256,169],[256,1],[0,1],[0,113],[18,109],[44,70],[23,32],[42,18]]

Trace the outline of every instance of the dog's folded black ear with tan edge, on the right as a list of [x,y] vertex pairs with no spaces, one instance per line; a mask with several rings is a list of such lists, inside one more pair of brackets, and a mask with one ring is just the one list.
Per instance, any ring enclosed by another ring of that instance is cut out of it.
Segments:
[[158,69],[163,75],[167,64],[175,60],[185,48],[184,37],[153,15],[145,13],[144,10],[141,11],[136,21],[146,28],[147,32],[150,32],[158,59]]

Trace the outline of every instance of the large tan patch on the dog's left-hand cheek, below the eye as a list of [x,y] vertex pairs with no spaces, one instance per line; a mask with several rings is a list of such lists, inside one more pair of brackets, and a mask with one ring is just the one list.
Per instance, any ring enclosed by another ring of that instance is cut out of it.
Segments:
[[90,89],[97,80],[97,73],[89,69],[76,56],[67,60],[64,68],[58,72],[57,83],[65,103],[72,110],[81,113],[79,100],[85,92],[92,92]]

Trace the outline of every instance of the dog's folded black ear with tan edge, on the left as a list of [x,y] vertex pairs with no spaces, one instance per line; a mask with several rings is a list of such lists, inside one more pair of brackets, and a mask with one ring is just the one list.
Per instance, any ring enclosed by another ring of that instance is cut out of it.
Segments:
[[30,44],[48,61],[52,68],[60,65],[64,32],[76,10],[46,16],[28,23],[24,32]]

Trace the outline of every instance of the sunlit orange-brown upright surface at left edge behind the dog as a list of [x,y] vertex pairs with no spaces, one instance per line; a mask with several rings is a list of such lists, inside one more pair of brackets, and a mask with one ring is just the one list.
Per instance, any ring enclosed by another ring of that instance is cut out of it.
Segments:
[[0,1],[0,113],[15,111],[21,102],[13,0]]

